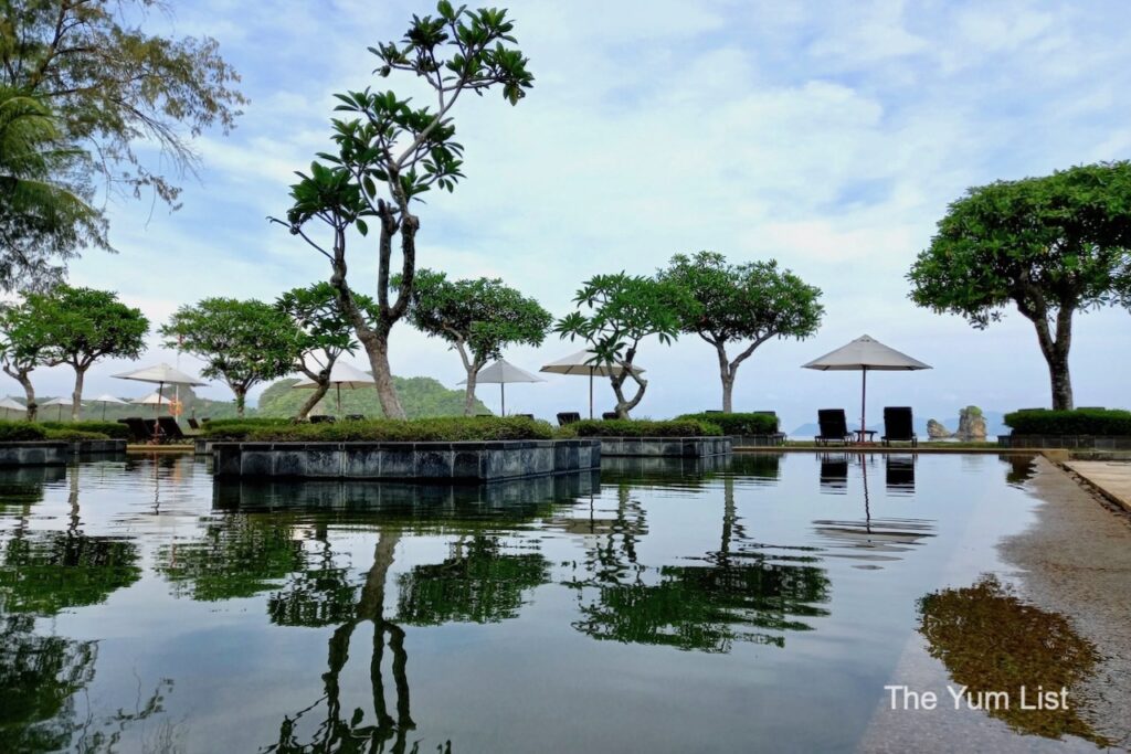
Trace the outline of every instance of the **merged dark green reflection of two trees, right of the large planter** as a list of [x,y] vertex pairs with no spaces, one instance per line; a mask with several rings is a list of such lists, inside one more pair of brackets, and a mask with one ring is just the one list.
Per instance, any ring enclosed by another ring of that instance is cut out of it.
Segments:
[[621,483],[616,515],[590,549],[586,574],[568,582],[581,613],[573,626],[599,640],[728,652],[735,641],[784,647],[784,632],[808,631],[804,618],[828,615],[820,604],[829,599],[829,579],[810,548],[767,554],[737,515],[734,477],[722,486],[720,545],[700,557],[707,565],[650,567],[637,560],[644,508]]

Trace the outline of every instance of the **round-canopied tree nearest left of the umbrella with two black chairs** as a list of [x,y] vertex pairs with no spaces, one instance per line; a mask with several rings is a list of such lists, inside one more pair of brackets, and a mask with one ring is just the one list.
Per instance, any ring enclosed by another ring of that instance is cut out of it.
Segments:
[[[776,260],[731,265],[723,254],[700,251],[672,257],[661,279],[682,286],[696,302],[683,313],[682,330],[696,333],[718,354],[723,410],[733,410],[732,395],[739,366],[771,338],[802,340],[817,333],[824,307],[821,289],[806,285]],[[732,359],[726,347],[750,341]]]

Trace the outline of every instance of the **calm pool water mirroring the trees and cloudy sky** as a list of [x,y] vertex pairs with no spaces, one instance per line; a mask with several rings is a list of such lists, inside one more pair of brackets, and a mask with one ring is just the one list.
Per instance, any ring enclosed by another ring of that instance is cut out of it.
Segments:
[[1030,460],[606,459],[486,488],[0,471],[0,751],[829,751]]

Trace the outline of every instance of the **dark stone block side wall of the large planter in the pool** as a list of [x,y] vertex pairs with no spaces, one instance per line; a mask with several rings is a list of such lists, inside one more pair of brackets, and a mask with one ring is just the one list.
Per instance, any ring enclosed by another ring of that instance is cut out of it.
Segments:
[[495,482],[601,467],[597,440],[492,442],[225,442],[218,477]]

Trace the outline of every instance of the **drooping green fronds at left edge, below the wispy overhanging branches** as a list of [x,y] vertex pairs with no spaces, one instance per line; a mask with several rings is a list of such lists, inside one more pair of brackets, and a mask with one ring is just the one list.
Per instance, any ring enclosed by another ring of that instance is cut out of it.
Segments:
[[80,177],[88,168],[43,103],[0,85],[0,288],[42,289],[79,250],[110,248]]

